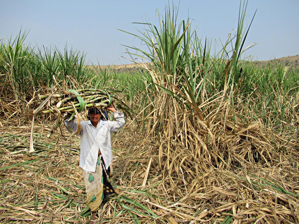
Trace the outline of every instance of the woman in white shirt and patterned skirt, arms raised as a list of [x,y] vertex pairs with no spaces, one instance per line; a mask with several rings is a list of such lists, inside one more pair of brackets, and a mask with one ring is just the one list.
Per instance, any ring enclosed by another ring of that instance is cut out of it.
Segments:
[[[107,108],[112,111],[115,121],[109,121],[107,114],[98,108],[88,110],[89,121],[81,121],[80,167],[86,186],[87,203],[91,210],[90,223],[96,221],[96,212],[109,194],[115,193],[110,183],[110,164],[112,162],[111,132],[116,132],[125,125],[122,112],[116,111],[113,105]],[[78,123],[65,121],[70,133],[78,130]]]

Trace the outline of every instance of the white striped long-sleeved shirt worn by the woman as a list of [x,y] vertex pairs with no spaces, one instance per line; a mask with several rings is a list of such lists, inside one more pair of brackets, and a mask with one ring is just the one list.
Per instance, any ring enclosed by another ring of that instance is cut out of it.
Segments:
[[[99,149],[104,159],[106,169],[112,162],[112,149],[111,149],[111,132],[116,132],[125,125],[123,113],[115,111],[113,113],[115,121],[100,120],[97,123],[97,128],[91,124],[91,121],[81,121],[81,135],[80,145],[80,167],[89,172],[95,172],[97,165],[97,156]],[[70,133],[78,130],[78,123],[65,121],[65,126],[70,129]]]

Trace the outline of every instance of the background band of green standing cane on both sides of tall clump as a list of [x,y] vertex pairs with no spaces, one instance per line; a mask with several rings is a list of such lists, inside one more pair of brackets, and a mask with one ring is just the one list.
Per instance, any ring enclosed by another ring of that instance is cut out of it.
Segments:
[[[26,42],[26,34],[20,33],[15,38],[1,41],[1,92],[4,98],[10,96],[28,102],[41,86],[52,88],[57,83],[74,89],[80,86],[109,87],[122,92],[131,106],[141,110],[141,102],[144,102],[149,89],[155,89],[149,72],[117,73],[113,66],[100,69],[94,65],[86,65],[88,61],[84,52],[67,47],[64,50],[56,47],[37,49]],[[199,50],[205,47],[205,52],[199,51],[194,56],[192,52],[188,62],[190,66],[197,66],[196,76],[192,74],[193,77],[187,77],[192,85],[189,87],[193,95],[202,79],[204,83],[200,84],[205,86],[207,95],[216,95],[229,85],[235,90],[235,100],[248,100],[249,107],[259,112],[268,123],[294,122],[289,113],[298,105],[297,70],[279,64],[256,66],[250,61],[238,60],[229,65],[230,71],[226,77],[229,61],[227,50],[223,49],[215,56],[210,55],[207,41],[204,46],[200,42],[197,44]],[[160,69],[163,71],[158,72],[162,74],[166,71],[171,73],[176,68]],[[198,80],[192,82],[194,78]]]

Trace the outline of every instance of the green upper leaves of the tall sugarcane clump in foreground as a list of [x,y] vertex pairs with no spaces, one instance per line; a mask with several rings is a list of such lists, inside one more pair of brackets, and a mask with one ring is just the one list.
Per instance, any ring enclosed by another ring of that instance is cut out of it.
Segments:
[[179,21],[174,5],[166,8],[164,16],[158,12],[160,27],[149,22],[137,23],[145,26],[144,31],[130,34],[146,43],[148,51],[129,47],[139,52],[130,54],[151,62],[154,69],[137,63],[149,71],[154,85],[184,102],[202,120],[198,105],[205,101],[203,91],[216,94],[238,81],[239,59],[250,27],[243,32],[246,6],[246,1],[240,3],[237,32],[228,35],[217,58],[210,55],[211,42],[202,41],[196,31],[192,31],[191,20]]

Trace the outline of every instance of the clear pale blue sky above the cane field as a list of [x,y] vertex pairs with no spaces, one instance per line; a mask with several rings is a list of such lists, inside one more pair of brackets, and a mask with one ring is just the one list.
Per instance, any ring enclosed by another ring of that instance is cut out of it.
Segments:
[[[33,46],[65,44],[84,50],[87,59],[101,65],[129,64],[123,45],[140,46],[140,41],[115,28],[134,32],[136,24],[150,19],[157,23],[156,9],[163,12],[168,1],[76,1],[76,0],[0,0],[0,39],[29,30],[26,41]],[[179,1],[173,1],[178,5]],[[246,55],[269,60],[299,54],[298,0],[249,0],[248,20],[257,14],[246,45],[258,43]],[[179,15],[193,19],[198,35],[225,41],[237,28],[239,0],[181,0]],[[246,23],[247,23],[246,22]],[[142,27],[138,27],[142,28]]]

